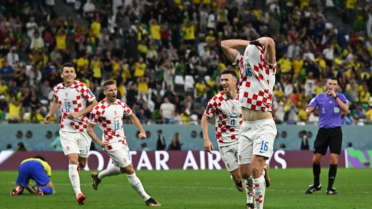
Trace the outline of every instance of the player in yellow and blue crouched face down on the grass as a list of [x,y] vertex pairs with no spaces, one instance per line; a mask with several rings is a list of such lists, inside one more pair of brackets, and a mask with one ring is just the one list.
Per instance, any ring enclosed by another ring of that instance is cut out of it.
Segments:
[[[10,191],[10,196],[23,194],[24,188],[40,196],[54,194],[56,189],[50,180],[51,176],[52,168],[42,156],[23,160],[19,166],[16,186]],[[35,180],[36,184],[30,186],[30,179]]]

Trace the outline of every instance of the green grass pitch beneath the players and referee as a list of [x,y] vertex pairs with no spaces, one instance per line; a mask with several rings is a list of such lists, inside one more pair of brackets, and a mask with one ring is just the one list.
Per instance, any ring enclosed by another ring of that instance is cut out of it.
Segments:
[[[147,193],[165,209],[223,208],[245,209],[244,192],[235,189],[227,170],[140,170]],[[53,170],[52,181],[57,193],[38,197],[25,191],[24,195],[9,196],[15,184],[16,171],[0,172],[0,208],[145,208],[142,198],[131,188],[125,175],[103,179],[99,190],[91,186],[90,172],[81,171],[81,189],[86,195],[85,206],[78,206],[67,170]],[[334,187],[338,195],[326,195],[328,169],[323,168],[320,182],[323,188],[304,195],[312,183],[311,169],[270,169],[272,185],[266,189],[265,209],[310,209],[372,207],[372,169],[337,170]]]

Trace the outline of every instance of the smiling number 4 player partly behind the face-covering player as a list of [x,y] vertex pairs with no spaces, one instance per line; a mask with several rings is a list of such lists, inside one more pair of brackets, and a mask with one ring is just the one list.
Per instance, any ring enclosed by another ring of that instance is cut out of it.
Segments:
[[[201,118],[201,130],[204,138],[204,149],[212,154],[211,150],[214,147],[208,136],[208,119],[214,116],[218,150],[235,182],[235,187],[243,192],[245,186],[238,169],[238,134],[239,127],[242,124],[242,109],[239,106],[237,80],[238,76],[235,71],[225,70],[221,73],[221,85],[224,90],[209,100],[204,115]],[[245,180],[247,185],[247,206],[254,207],[251,180],[250,178],[250,183],[248,183],[248,180]]]

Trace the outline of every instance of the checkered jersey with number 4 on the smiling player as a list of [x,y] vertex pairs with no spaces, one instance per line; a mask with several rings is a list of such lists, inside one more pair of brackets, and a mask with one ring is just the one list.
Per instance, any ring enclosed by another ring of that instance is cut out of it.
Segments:
[[239,129],[243,123],[239,97],[232,100],[226,96],[225,91],[221,91],[209,100],[204,114],[215,116],[218,146],[238,143]]

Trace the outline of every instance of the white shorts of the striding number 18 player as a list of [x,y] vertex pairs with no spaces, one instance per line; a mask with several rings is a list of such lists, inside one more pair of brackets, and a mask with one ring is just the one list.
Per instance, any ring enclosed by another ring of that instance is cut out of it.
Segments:
[[[111,148],[111,149],[109,149]],[[129,147],[123,141],[110,143],[110,146],[104,148],[105,152],[113,159],[116,167],[127,167],[131,164]]]

